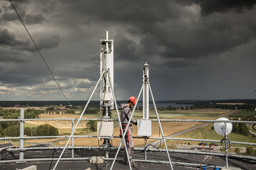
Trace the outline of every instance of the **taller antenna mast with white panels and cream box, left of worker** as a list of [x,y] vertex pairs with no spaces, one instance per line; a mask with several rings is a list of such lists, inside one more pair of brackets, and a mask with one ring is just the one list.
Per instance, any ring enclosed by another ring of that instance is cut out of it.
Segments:
[[[103,122],[97,122],[97,138],[104,139],[103,148],[111,146],[110,140],[114,137],[114,122],[108,122],[111,118],[111,110],[114,109],[113,91],[110,84],[114,84],[114,40],[109,40],[109,33],[106,31],[106,39],[101,40],[101,64],[100,74],[104,73],[101,79],[100,106],[102,109]],[[111,82],[110,82],[111,81]],[[109,152],[106,151],[106,158]]]

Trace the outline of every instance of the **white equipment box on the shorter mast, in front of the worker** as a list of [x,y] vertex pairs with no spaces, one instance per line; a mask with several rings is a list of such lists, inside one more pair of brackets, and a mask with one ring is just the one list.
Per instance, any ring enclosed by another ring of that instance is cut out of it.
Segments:
[[138,136],[151,136],[151,120],[138,120]]

